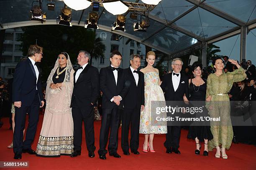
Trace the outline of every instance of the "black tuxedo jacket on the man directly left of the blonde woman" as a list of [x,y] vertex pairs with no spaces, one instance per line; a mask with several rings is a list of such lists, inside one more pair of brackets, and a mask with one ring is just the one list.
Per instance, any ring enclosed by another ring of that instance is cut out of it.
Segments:
[[141,107],[141,105],[145,105],[143,72],[139,71],[138,77],[138,86],[136,86],[131,68],[124,69],[125,88],[128,90],[127,95],[123,99],[124,108],[134,109],[136,106]]

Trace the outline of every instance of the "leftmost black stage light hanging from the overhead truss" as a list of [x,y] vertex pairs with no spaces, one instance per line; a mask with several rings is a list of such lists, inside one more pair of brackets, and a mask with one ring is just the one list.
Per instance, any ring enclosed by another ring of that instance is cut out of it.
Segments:
[[32,2],[32,7],[31,7],[31,20],[36,20],[36,21],[46,21],[46,14],[43,12],[42,9],[42,2],[39,0],[38,5],[33,5],[34,2],[38,1],[33,1]]

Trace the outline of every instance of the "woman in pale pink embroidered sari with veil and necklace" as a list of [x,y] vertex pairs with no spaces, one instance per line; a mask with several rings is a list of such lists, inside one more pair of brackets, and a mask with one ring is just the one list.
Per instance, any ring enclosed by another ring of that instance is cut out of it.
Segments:
[[41,157],[59,157],[73,152],[73,119],[70,100],[74,70],[67,52],[61,52],[47,80],[46,110],[36,148]]

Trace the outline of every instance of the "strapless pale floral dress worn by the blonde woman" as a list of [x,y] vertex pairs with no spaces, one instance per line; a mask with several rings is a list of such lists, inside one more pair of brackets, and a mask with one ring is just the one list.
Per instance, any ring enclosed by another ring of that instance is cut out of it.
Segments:
[[[151,121],[151,101],[164,101],[164,93],[158,85],[159,75],[157,72],[147,72],[144,74],[145,81],[145,107],[141,111],[140,133],[142,134],[164,134],[167,133],[165,121]],[[161,102],[162,107],[163,102]],[[160,113],[159,117],[166,117],[166,112]],[[153,122],[153,123],[152,123]]]

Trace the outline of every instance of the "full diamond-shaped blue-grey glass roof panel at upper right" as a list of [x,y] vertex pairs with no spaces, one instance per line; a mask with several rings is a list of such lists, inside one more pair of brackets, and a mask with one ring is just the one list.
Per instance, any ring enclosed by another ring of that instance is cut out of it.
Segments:
[[195,10],[177,20],[174,24],[205,38],[217,35],[237,26],[200,7],[197,7]]

